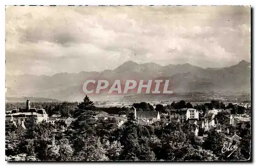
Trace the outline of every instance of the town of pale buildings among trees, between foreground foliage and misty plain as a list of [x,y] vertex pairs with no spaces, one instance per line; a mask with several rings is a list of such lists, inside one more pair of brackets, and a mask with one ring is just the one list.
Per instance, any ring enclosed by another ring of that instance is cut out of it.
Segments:
[[[12,105],[13,103],[7,103],[7,106],[10,106],[8,104]],[[36,105],[36,103],[33,104]],[[7,108],[6,124],[10,124],[9,126],[13,126],[12,128],[16,128],[16,130],[28,130],[30,127],[33,128],[33,125],[48,123],[53,126],[52,133],[55,140],[55,137],[61,137],[59,135],[72,131],[71,126],[79,119],[80,115],[78,114],[82,114],[76,111],[81,104],[93,105],[93,102],[86,96],[84,101],[79,104],[63,102],[58,103],[55,107],[42,106],[44,105],[42,104],[40,108],[33,108],[28,99],[24,108],[9,111]],[[108,103],[104,103],[104,106],[87,107],[86,105],[87,108],[84,111],[90,112],[90,108],[92,108],[95,127],[108,126],[105,128],[109,130],[108,132],[116,132],[131,121],[142,126],[158,125],[156,127],[161,127],[162,123],[170,127],[180,124],[187,126],[187,132],[193,134],[201,143],[207,142],[210,132],[222,133],[237,143],[242,140],[242,137],[239,136],[241,131],[250,130],[251,124],[249,103],[223,103],[212,100],[210,103],[191,104],[181,100],[164,105],[160,103],[151,105],[146,102],[126,103],[125,106],[124,103],[119,106],[106,105]],[[60,111],[58,112],[57,109]],[[142,130],[142,132],[145,131]],[[9,141],[7,140],[7,142]]]

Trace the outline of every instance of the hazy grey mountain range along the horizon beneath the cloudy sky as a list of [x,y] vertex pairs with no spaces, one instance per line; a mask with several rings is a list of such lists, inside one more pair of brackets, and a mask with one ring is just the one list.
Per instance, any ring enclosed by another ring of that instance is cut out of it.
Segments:
[[[250,92],[250,63],[241,61],[224,68],[206,68],[188,63],[161,66],[127,61],[114,70],[102,72],[57,73],[47,75],[6,75],[6,96],[34,96],[58,100],[81,100],[82,85],[88,79],[169,79],[175,93],[184,92]],[[104,96],[104,94],[102,94]]]

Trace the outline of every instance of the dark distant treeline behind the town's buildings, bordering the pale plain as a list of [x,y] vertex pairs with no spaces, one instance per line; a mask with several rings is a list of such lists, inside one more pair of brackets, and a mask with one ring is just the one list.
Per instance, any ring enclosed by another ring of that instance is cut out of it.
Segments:
[[[53,114],[60,115],[62,117],[72,117],[75,109],[78,106],[78,102],[31,102],[31,107],[35,108],[44,108],[51,117]],[[223,102],[219,102],[217,100],[211,100],[211,102],[204,104],[192,105],[190,102],[185,102],[184,100],[173,102],[168,105],[156,104],[155,109],[154,106],[150,103],[140,102],[134,103],[133,106],[137,109],[137,111],[148,111],[148,110],[156,110],[160,114],[168,114],[172,109],[182,109],[182,108],[195,108],[199,111],[202,111],[203,115],[205,115],[207,110],[210,109],[230,109],[231,114],[244,114],[246,112],[250,112],[250,108],[245,108],[244,106],[240,106],[237,104],[229,103],[227,106]],[[25,108],[26,103],[6,103],[6,111],[10,111],[15,108]],[[129,110],[130,107],[96,107],[98,112],[106,112],[108,114],[115,115],[124,115],[126,111]]]

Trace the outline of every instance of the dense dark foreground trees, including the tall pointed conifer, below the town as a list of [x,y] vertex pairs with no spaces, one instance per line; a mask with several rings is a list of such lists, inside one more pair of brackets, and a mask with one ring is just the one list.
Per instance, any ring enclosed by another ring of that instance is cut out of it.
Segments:
[[[147,107],[144,103],[141,106]],[[137,105],[138,106],[138,105]],[[150,107],[150,106],[148,106]],[[77,105],[69,129],[56,132],[50,123],[31,123],[23,130],[6,123],[6,155],[27,154],[38,160],[242,160],[250,157],[250,128],[236,128],[242,137],[238,149],[222,152],[228,135],[208,131],[202,142],[188,124],[162,118],[153,124],[140,124],[131,113],[121,127],[97,125],[94,103],[89,97]],[[232,131],[232,130],[231,130]],[[15,158],[15,157],[14,157]]]

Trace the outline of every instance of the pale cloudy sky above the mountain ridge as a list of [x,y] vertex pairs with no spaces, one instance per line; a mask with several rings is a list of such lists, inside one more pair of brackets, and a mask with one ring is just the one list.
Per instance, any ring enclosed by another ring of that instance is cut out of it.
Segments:
[[246,6],[6,6],[6,74],[250,62]]

